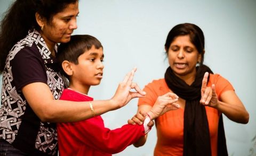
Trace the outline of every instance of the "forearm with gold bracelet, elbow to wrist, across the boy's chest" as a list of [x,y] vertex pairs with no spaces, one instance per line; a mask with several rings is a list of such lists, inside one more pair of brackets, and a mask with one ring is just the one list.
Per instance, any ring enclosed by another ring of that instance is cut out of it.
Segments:
[[49,103],[49,106],[51,107],[46,107],[41,113],[37,112],[37,116],[42,122],[78,122],[93,117],[93,114],[94,116],[98,116],[118,108],[117,105],[114,105],[114,103],[111,102],[111,100],[97,100],[90,102],[92,103],[93,110],[90,108],[89,102],[52,100],[51,103]]

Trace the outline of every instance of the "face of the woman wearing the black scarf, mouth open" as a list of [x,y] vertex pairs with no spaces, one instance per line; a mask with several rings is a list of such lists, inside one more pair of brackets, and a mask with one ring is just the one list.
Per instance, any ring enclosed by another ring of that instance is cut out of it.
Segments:
[[190,42],[189,35],[178,36],[167,50],[170,67],[179,77],[195,76],[196,64],[201,60],[201,54]]

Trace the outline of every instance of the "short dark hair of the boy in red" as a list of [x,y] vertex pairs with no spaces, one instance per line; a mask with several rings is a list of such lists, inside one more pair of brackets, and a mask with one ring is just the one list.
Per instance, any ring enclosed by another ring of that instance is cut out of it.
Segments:
[[[96,49],[103,49],[101,42],[97,38],[90,36],[89,34],[71,36],[69,42],[62,43],[58,47],[57,59],[60,67],[64,60],[68,60],[71,63],[78,64],[78,57],[84,54],[86,51],[90,50],[92,46],[94,46]],[[63,75],[69,78],[69,76],[63,70],[61,71]]]

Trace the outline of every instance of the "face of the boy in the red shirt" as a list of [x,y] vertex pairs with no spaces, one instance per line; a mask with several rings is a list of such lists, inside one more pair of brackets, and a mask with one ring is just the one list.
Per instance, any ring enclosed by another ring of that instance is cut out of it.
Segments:
[[98,85],[103,76],[102,64],[104,55],[102,48],[95,49],[94,46],[78,57],[78,64],[72,63],[73,75],[70,85],[78,90],[89,90],[91,85]]

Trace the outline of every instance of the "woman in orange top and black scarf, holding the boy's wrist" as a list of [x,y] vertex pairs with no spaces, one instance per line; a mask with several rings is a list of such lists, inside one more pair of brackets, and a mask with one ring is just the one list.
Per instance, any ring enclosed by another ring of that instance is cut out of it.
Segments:
[[[154,155],[228,155],[222,113],[237,123],[249,122],[249,114],[233,86],[203,64],[204,34],[195,24],[178,24],[165,43],[170,67],[163,79],[145,86],[138,112],[165,101],[165,94],[179,96],[180,108],[156,118],[157,143]],[[210,75],[210,76],[209,76]],[[144,117],[138,113],[130,124]],[[134,146],[145,144],[147,136]]]

